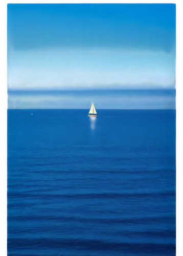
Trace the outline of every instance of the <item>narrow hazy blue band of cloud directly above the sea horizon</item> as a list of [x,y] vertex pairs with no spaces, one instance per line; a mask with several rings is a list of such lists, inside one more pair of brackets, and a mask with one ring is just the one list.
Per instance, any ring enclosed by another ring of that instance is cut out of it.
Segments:
[[85,109],[94,101],[100,109],[176,110],[176,88],[7,90],[11,109]]

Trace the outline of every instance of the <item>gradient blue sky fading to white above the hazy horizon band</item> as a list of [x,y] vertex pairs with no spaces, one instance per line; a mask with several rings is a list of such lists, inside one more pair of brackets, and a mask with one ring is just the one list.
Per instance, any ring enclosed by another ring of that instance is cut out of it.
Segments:
[[8,3],[7,86],[176,81],[175,3]]

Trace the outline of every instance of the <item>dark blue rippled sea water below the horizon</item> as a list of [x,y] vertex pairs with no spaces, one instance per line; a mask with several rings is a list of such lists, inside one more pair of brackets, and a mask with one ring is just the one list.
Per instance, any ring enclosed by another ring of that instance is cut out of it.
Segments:
[[175,256],[176,112],[87,112],[7,111],[8,256]]

